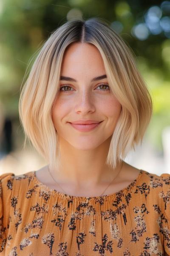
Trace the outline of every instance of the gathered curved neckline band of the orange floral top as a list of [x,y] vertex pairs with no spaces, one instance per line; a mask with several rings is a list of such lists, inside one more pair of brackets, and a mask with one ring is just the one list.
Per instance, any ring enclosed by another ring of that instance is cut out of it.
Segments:
[[45,185],[44,183],[40,182],[40,180],[38,180],[37,176],[36,176],[36,171],[33,171],[33,177],[34,177],[34,182],[41,186],[42,188],[44,188],[45,190],[47,190],[48,192],[54,193],[55,195],[64,198],[64,199],[72,199],[72,200],[98,200],[98,199],[108,199],[108,198],[113,198],[116,195],[120,194],[120,193],[125,193],[125,192],[129,192],[131,187],[136,186],[136,184],[139,182],[140,178],[142,177],[142,173],[147,173],[146,171],[140,169],[140,172],[138,174],[138,176],[136,177],[135,180],[133,180],[128,186],[126,186],[125,188],[119,190],[118,192],[114,192],[108,195],[99,195],[99,196],[75,196],[75,195],[68,195],[62,192],[57,191],[56,189],[52,189],[49,186]]

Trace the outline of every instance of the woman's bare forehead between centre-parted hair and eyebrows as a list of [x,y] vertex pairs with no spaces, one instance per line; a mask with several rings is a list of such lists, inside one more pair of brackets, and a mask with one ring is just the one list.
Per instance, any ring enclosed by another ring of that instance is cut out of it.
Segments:
[[[105,66],[99,50],[93,44],[74,43],[64,53],[62,60],[62,73],[75,73],[85,70],[105,73]],[[64,75],[64,74],[63,74]]]

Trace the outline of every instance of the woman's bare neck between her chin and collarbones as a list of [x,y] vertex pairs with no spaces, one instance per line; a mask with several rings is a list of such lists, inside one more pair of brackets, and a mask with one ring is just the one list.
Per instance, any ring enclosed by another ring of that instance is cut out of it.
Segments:
[[98,148],[81,150],[60,139],[60,166],[57,171],[51,170],[51,174],[60,184],[68,183],[77,188],[111,182],[119,172],[122,162],[115,169],[105,164],[110,140],[109,138]]

